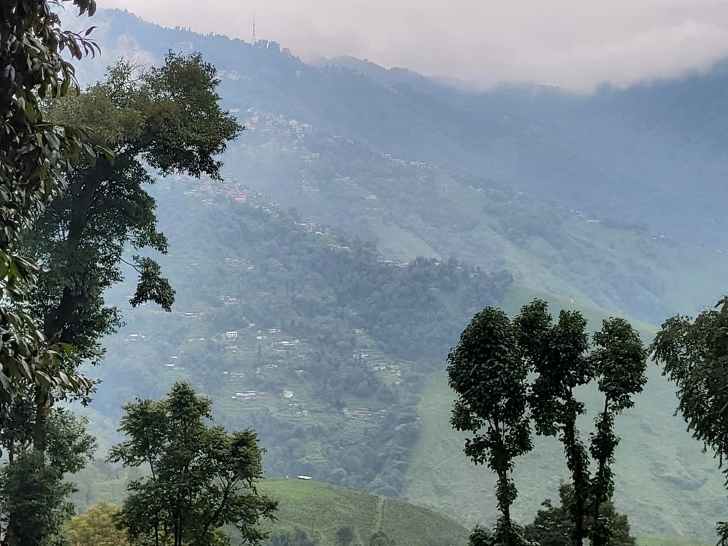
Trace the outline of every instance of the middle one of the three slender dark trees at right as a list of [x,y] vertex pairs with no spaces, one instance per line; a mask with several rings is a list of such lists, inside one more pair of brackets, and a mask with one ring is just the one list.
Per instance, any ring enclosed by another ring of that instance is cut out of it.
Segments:
[[579,439],[577,418],[585,409],[574,397],[574,389],[591,379],[587,321],[577,311],[561,311],[558,323],[553,324],[546,302],[536,299],[523,306],[514,322],[523,353],[537,374],[529,397],[536,432],[561,435],[573,484],[573,502],[568,506],[573,510],[574,525],[570,529],[574,544],[581,546],[587,536],[589,454]]

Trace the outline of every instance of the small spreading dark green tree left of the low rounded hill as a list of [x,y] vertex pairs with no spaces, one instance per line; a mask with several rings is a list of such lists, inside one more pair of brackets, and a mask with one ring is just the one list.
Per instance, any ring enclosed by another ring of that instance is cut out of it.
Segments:
[[130,483],[119,514],[132,543],[202,546],[223,525],[234,525],[250,544],[265,538],[256,523],[272,519],[277,503],[256,489],[263,472],[256,433],[205,424],[210,409],[210,400],[186,383],[176,383],[164,400],[124,406],[119,430],[129,439],[109,459],[151,472]]

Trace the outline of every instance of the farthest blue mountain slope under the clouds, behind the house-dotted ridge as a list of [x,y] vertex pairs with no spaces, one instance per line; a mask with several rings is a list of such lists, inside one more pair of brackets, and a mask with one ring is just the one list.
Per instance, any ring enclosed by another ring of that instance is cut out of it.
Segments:
[[589,96],[526,85],[471,92],[351,58],[310,66],[277,44],[168,31],[123,12],[103,18],[99,36],[108,44],[135,40],[157,57],[168,48],[202,51],[222,71],[231,106],[300,119],[599,218],[727,247],[725,63]]

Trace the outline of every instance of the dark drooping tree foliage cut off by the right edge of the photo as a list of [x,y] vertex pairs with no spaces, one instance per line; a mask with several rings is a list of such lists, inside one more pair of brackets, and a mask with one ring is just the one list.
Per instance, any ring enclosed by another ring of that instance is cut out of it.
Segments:
[[[666,320],[649,352],[678,387],[678,411],[688,430],[713,450],[728,483],[723,466],[728,456],[728,297],[695,320]],[[728,524],[719,522],[717,527],[721,545],[727,545]]]

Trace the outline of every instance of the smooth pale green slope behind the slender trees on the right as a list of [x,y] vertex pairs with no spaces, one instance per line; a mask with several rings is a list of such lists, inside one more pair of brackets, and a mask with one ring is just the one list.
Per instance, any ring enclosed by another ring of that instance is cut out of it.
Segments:
[[[521,304],[542,294],[523,288],[509,290],[505,306],[515,312]],[[556,298],[551,310],[578,308],[598,327],[608,315],[590,306]],[[649,325],[638,324],[649,341]],[[596,392],[582,392],[590,405]],[[462,454],[464,435],[450,429],[453,394],[444,371],[431,373],[419,403],[421,434],[411,456],[405,480],[405,498],[440,510],[463,523],[491,523],[496,504],[494,477],[488,469],[474,467]],[[635,534],[656,533],[710,539],[715,522],[728,510],[717,462],[701,453],[700,444],[684,432],[684,423],[672,415],[673,387],[649,367],[649,383],[636,407],[617,419],[622,438],[617,448],[617,508],[630,518]],[[582,434],[590,428],[590,414],[582,419]],[[558,498],[560,480],[568,478],[561,444],[553,438],[536,438],[534,451],[518,460],[515,481],[519,488],[515,513],[529,521],[543,499]]]

